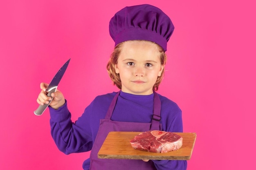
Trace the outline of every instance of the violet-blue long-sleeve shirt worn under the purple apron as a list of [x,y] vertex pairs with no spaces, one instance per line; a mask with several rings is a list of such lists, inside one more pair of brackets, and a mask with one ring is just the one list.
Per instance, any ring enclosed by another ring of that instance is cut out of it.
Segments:
[[[105,118],[116,94],[113,92],[97,96],[75,123],[70,119],[71,113],[67,108],[67,101],[58,110],[49,107],[51,134],[59,150],[65,154],[91,150],[99,130],[99,120]],[[150,123],[153,115],[153,98],[154,94],[132,95],[121,91],[111,120]],[[162,130],[182,132],[180,108],[162,95],[159,95],[159,98]],[[186,170],[187,166],[186,161],[153,160],[153,162],[157,170]],[[83,163],[83,168],[88,170],[89,166],[90,159],[87,159]]]

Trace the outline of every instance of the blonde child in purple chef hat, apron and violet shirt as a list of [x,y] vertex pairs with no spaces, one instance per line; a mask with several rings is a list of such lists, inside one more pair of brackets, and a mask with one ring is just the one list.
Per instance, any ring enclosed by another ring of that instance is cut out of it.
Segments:
[[[163,78],[167,41],[174,29],[170,18],[151,5],[137,5],[117,12],[109,28],[115,49],[107,68],[121,91],[97,96],[75,123],[63,94],[52,93],[50,124],[56,145],[65,154],[91,150],[84,170],[185,170],[186,161],[98,159],[110,131],[182,132],[180,108],[155,92]],[[49,102],[47,86],[40,84],[38,104]]]

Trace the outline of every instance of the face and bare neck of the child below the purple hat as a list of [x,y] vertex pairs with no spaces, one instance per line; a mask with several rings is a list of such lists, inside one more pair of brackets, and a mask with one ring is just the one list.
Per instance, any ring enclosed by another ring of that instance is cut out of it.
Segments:
[[157,45],[148,41],[126,41],[115,65],[125,93],[150,95],[163,66]]

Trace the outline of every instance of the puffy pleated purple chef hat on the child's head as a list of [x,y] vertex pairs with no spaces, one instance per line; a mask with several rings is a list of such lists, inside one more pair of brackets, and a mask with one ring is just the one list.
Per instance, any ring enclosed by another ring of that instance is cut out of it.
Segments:
[[159,8],[149,4],[125,7],[109,23],[115,46],[128,40],[148,40],[167,50],[167,42],[174,30],[171,19]]

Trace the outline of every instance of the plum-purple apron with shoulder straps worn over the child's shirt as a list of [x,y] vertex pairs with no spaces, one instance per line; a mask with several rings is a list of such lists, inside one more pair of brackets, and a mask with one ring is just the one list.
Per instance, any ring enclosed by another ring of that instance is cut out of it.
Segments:
[[100,120],[99,131],[92,146],[90,154],[90,170],[156,170],[153,161],[144,162],[135,159],[99,159],[98,152],[107,135],[111,131],[123,132],[145,132],[148,130],[162,130],[159,123],[161,102],[159,96],[154,91],[153,117],[151,123],[136,123],[124,121],[112,121],[111,116],[114,111],[120,91],[113,98],[105,119]]

